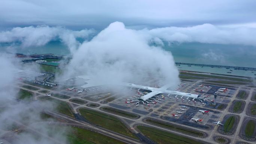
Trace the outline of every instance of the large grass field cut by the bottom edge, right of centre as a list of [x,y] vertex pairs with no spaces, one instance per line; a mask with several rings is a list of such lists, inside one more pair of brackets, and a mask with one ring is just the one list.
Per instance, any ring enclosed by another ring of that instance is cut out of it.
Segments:
[[158,144],[202,144],[190,138],[182,137],[180,135],[172,134],[147,126],[137,126],[137,128],[144,135]]

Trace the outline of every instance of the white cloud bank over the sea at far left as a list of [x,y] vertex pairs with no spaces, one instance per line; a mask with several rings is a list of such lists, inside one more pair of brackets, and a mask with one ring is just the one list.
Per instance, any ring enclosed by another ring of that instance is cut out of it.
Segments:
[[60,39],[68,46],[72,53],[79,46],[77,38],[86,39],[94,30],[72,31],[63,27],[49,27],[41,25],[37,27],[16,27],[9,31],[0,32],[0,43],[19,42],[22,48],[30,46],[43,46],[51,40]]

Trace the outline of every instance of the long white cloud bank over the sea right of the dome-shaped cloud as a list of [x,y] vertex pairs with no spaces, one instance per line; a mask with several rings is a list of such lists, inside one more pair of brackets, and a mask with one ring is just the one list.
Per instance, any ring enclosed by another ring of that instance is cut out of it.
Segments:
[[167,42],[200,42],[256,46],[256,28],[250,27],[228,28],[203,24],[194,27],[145,29],[141,32]]

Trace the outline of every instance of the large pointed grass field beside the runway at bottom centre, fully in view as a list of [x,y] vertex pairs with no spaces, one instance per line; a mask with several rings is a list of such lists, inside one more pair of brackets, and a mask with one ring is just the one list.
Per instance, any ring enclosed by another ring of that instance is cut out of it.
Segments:
[[100,113],[94,110],[79,109],[81,115],[88,119],[90,122],[102,126],[119,134],[126,135],[131,138],[138,139],[119,119],[116,117]]

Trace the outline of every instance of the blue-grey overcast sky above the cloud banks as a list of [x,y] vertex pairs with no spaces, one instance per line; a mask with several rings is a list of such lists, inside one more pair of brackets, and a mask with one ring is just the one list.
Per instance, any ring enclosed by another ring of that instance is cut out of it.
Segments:
[[255,0],[1,0],[0,29],[31,25],[101,30],[213,25],[256,27]]

